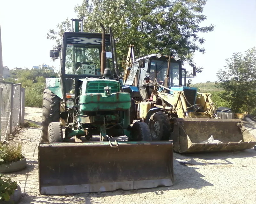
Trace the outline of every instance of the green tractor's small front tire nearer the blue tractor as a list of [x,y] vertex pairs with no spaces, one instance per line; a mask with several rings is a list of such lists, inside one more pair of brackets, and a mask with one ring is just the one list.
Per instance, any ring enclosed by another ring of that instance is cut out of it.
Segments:
[[152,141],[150,130],[145,122],[133,123],[131,136],[133,141]]

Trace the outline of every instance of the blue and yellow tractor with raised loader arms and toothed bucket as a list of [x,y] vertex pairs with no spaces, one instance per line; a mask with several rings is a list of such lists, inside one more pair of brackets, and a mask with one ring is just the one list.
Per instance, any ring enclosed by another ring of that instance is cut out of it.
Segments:
[[172,140],[179,153],[235,151],[256,145],[256,138],[230,108],[217,107],[210,93],[190,86],[191,79],[186,85],[182,61],[159,53],[135,60],[133,48],[129,46],[123,90],[133,98],[132,117],[148,124],[152,141]]

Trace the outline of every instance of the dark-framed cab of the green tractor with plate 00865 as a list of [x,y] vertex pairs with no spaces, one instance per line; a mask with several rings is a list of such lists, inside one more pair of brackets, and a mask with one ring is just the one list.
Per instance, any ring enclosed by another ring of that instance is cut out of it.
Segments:
[[[75,21],[75,32],[73,32],[72,25],[72,32],[63,33],[62,45],[50,51],[50,57],[57,59],[60,57],[60,80],[48,79],[47,86],[53,84],[62,87],[57,95],[63,101],[80,95],[82,84],[85,82],[83,79],[118,79],[114,36],[111,28],[110,34],[104,32],[103,34],[84,33],[83,21],[80,19],[71,20],[72,24]],[[82,32],[79,32],[80,21]],[[103,57],[103,64],[101,64]],[[49,80],[52,80],[51,83]],[[104,92],[104,83],[102,85],[100,90]]]

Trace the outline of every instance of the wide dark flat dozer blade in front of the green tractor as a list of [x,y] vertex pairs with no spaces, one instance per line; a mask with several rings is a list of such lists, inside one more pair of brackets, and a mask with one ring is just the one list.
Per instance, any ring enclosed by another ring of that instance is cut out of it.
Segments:
[[62,142],[38,147],[40,194],[131,190],[173,185],[173,144]]

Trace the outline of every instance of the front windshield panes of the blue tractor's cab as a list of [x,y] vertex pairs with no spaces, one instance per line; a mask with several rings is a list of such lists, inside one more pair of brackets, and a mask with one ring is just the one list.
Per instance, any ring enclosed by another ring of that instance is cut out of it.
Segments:
[[[150,84],[153,85],[156,80],[159,84],[164,85],[164,80],[167,77],[168,62],[152,59],[150,62]],[[179,63],[171,62],[170,67],[170,84],[169,87],[180,85]]]

